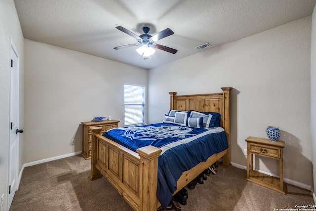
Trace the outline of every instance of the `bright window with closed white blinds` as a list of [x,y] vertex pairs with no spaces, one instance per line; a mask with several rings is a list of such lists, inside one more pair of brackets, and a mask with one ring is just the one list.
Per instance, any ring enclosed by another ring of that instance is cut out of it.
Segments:
[[145,87],[124,85],[125,125],[145,123]]

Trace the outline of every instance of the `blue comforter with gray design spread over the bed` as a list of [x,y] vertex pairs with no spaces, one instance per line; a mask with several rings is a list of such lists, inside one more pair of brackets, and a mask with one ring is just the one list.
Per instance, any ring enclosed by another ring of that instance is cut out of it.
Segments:
[[162,150],[158,157],[157,198],[166,209],[177,189],[177,180],[211,155],[228,148],[223,128],[200,129],[171,123],[155,123],[108,130],[103,136],[130,150],[152,145]]

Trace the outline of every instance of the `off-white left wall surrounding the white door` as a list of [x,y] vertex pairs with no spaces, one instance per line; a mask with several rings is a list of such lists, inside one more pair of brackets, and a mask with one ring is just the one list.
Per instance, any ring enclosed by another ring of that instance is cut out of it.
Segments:
[[[0,0],[0,197],[7,207],[10,123],[10,38],[20,56],[20,128],[23,128],[24,50],[23,34],[13,0]],[[22,168],[23,135],[20,135],[19,169]]]

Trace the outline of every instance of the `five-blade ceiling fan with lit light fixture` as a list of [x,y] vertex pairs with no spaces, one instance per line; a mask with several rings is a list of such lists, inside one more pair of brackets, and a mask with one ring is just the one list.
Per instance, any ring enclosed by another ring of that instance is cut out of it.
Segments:
[[120,30],[122,32],[125,32],[126,34],[132,36],[133,38],[135,38],[138,41],[138,43],[135,43],[135,44],[127,44],[127,45],[114,47],[114,49],[116,49],[116,50],[126,48],[126,47],[133,47],[133,46],[142,45],[140,48],[137,49],[137,52],[140,55],[142,55],[144,57],[144,59],[148,58],[149,56],[154,54],[154,52],[155,52],[154,48],[159,49],[159,50],[163,50],[163,51],[166,51],[169,53],[173,53],[173,54],[175,54],[178,51],[176,49],[155,43],[156,41],[173,34],[173,31],[169,28],[162,30],[161,32],[158,32],[157,34],[155,34],[153,36],[148,34],[149,27],[147,27],[147,26],[143,27],[144,34],[142,34],[140,36],[132,33],[131,31],[125,29],[122,26],[117,26],[115,28],[117,28],[118,30]]

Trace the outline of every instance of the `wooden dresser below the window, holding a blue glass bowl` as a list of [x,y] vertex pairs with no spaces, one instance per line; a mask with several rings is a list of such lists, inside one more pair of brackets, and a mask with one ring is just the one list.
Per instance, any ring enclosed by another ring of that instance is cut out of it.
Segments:
[[81,122],[82,123],[82,157],[85,159],[91,159],[91,143],[92,134],[91,127],[102,127],[101,133],[118,127],[119,120],[105,120],[100,122]]

